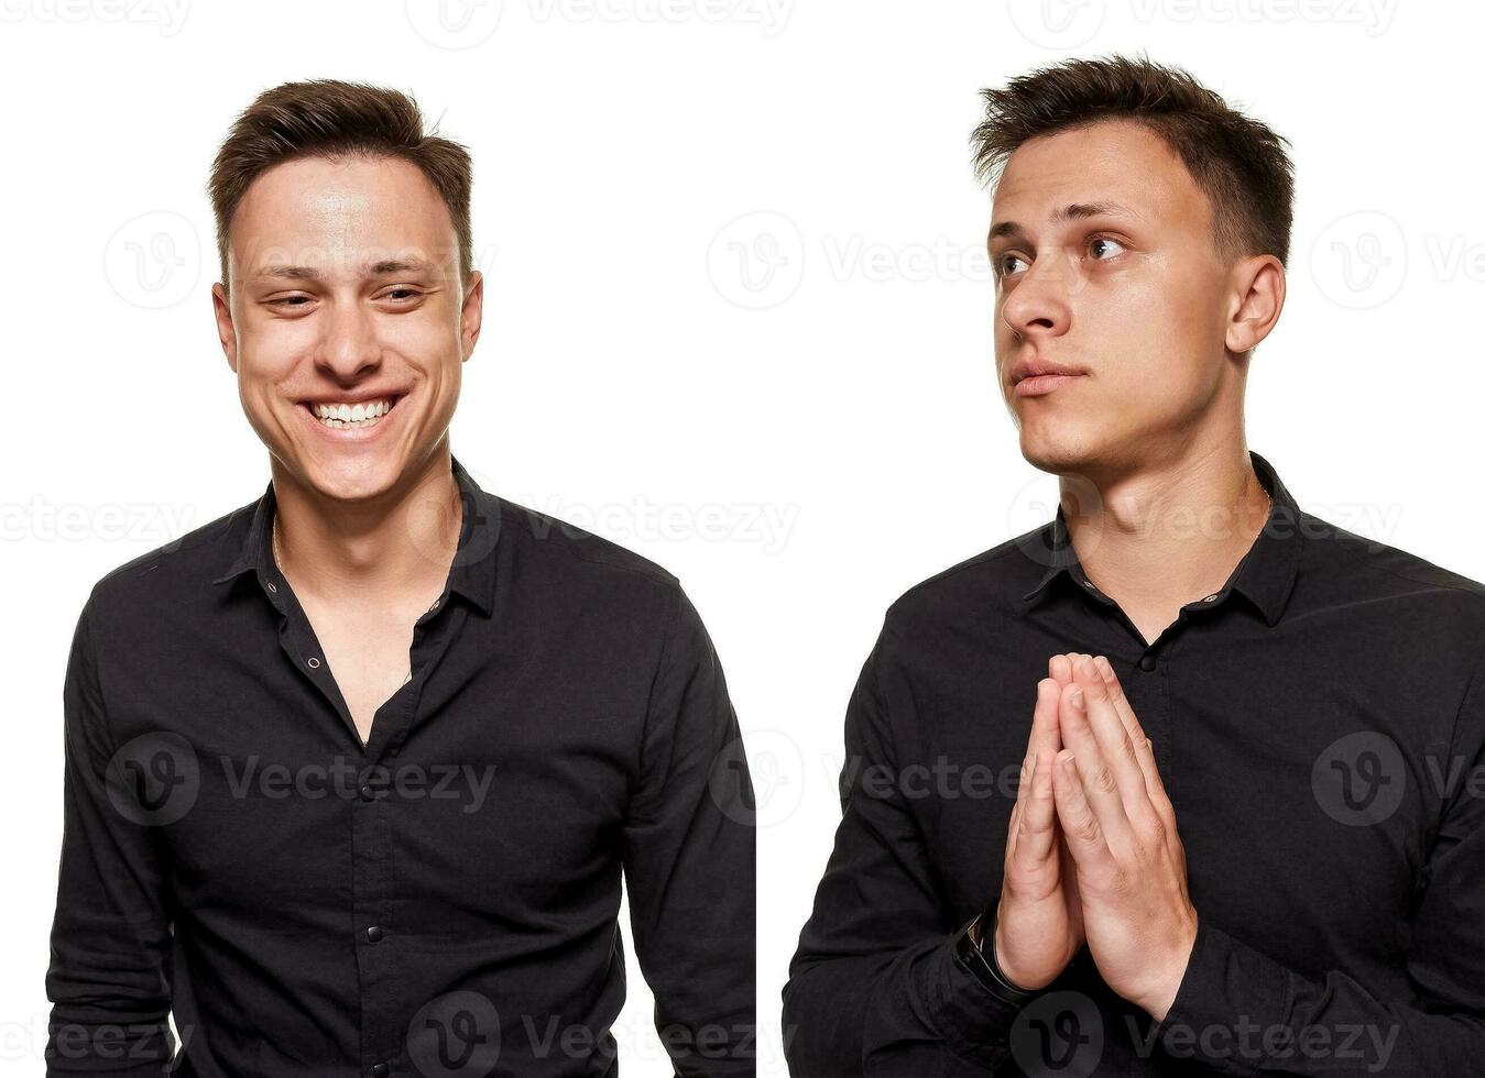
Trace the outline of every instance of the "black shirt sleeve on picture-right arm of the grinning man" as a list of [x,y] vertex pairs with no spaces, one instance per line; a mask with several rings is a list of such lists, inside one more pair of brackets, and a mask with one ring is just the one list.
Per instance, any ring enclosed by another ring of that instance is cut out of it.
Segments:
[[711,640],[674,603],[624,824],[634,952],[676,1074],[753,1075],[753,785]]

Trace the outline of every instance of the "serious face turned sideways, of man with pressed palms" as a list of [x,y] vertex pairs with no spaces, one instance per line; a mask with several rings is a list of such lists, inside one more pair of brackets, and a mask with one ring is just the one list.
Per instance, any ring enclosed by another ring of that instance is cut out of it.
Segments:
[[[989,254],[996,373],[1029,462],[1091,474],[1173,454],[1209,417],[1240,428],[1228,349],[1250,342],[1230,328],[1252,266],[1224,263],[1209,199],[1148,128],[1103,120],[1017,147]],[[1080,373],[1014,385],[1056,365]]]

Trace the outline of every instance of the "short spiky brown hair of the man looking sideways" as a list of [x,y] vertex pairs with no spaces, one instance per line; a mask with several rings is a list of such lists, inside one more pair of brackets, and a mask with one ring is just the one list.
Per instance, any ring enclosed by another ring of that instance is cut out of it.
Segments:
[[1170,146],[1212,202],[1212,232],[1227,258],[1271,254],[1289,263],[1293,165],[1287,140],[1244,116],[1179,67],[1111,55],[1069,59],[982,91],[974,169],[989,183],[1035,135],[1099,120],[1142,123]]

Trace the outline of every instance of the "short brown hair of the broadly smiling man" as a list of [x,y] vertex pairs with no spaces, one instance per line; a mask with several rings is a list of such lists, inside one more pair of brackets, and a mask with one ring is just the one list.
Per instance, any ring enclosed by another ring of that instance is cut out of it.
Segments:
[[217,218],[217,257],[227,281],[227,229],[252,181],[298,157],[398,157],[416,165],[448,208],[459,239],[459,270],[474,272],[469,227],[469,151],[423,131],[423,113],[410,94],[337,79],[287,82],[254,98],[217,151],[206,193]]

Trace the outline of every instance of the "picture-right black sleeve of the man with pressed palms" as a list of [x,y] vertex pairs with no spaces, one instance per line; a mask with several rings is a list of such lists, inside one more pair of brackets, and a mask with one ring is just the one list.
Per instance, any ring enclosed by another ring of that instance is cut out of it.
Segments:
[[1485,1075],[1482,689],[1476,673],[1449,753],[1435,760],[1445,777],[1464,766],[1420,879],[1412,998],[1383,999],[1341,970],[1304,977],[1198,915],[1175,1002],[1152,1029],[1166,1053],[1234,1075]]

